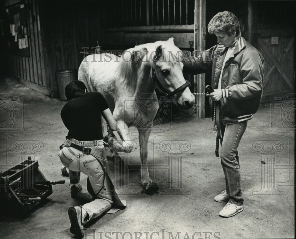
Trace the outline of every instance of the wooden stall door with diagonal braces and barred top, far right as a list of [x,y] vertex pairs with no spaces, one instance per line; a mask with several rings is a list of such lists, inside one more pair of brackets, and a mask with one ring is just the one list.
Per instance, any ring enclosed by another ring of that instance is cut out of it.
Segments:
[[262,103],[295,92],[294,4],[249,1],[249,36],[265,60]]

